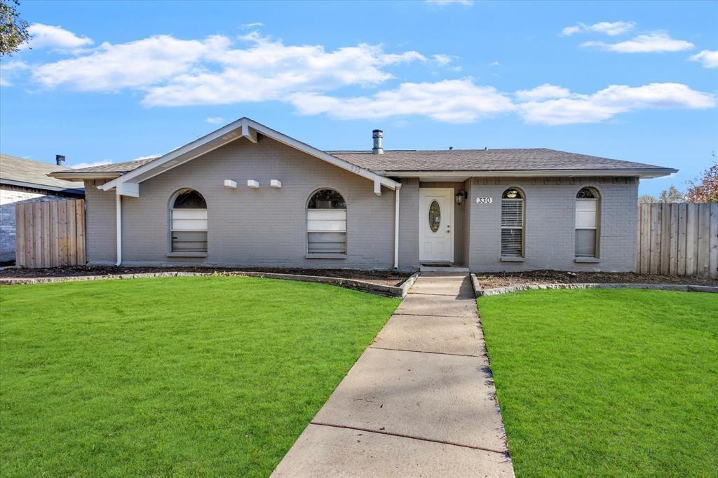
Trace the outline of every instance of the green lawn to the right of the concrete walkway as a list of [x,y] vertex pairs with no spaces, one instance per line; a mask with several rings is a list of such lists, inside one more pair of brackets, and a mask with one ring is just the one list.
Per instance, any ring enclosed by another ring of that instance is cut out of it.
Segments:
[[479,299],[516,474],[715,476],[718,295]]

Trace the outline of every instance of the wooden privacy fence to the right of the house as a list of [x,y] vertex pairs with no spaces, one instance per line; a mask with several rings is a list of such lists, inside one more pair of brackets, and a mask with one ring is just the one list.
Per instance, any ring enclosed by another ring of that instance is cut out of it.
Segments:
[[718,203],[638,205],[636,272],[718,276]]

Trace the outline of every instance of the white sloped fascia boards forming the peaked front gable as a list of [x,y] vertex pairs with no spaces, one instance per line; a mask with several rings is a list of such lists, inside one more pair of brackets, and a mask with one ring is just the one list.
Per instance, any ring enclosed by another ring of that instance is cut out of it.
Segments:
[[[238,130],[238,129],[241,130],[241,134],[237,134],[236,130]],[[195,159],[197,156],[202,156],[202,154],[207,154],[208,152],[213,151],[213,149],[217,149],[220,146],[224,146],[225,144],[229,143],[230,141],[234,141],[241,137],[246,138],[249,141],[256,142],[256,139],[257,139],[256,133],[262,133],[264,136],[268,136],[269,138],[274,139],[275,141],[279,141],[280,143],[286,144],[287,146],[291,146],[292,148],[298,149],[299,151],[303,151],[304,153],[307,153],[307,154],[314,156],[318,159],[322,159],[322,161],[327,161],[330,164],[334,164],[337,167],[346,169],[349,172],[358,174],[359,176],[365,177],[366,179],[370,179],[371,181],[378,180],[379,182],[381,182],[381,184],[383,186],[386,186],[389,189],[396,189],[396,185],[399,184],[398,182],[393,181],[392,179],[389,179],[388,177],[383,177],[383,176],[381,176],[381,174],[376,174],[374,172],[370,172],[368,169],[363,169],[361,167],[358,167],[355,164],[351,164],[348,161],[339,159],[336,156],[332,156],[331,154],[325,153],[325,151],[314,148],[314,146],[309,146],[308,144],[302,143],[302,141],[297,141],[294,138],[290,138],[289,136],[286,136],[285,134],[279,133],[279,131],[274,131],[273,129],[268,128],[267,126],[264,126],[261,123],[257,123],[256,121],[253,121],[249,118],[240,118],[237,121],[233,121],[232,123],[229,123],[227,126],[223,126],[222,128],[219,128],[217,131],[214,131],[213,133],[209,133],[208,135],[202,136],[202,138],[196,139],[195,141],[192,141],[191,143],[186,144],[185,146],[175,149],[174,151],[170,151],[169,153],[165,154],[164,156],[161,156],[158,159],[155,159],[154,161],[151,161],[151,162],[145,164],[144,166],[134,169],[134,171],[128,172],[126,174],[123,174],[120,177],[117,177],[116,179],[113,179],[112,181],[106,182],[105,184],[103,184],[101,186],[101,189],[103,189],[105,191],[107,191],[109,189],[113,189],[114,187],[117,187],[117,185],[122,182],[129,181],[130,179],[139,177],[142,174],[146,174],[146,173],[154,171],[154,174],[150,174],[149,176],[143,177],[138,180],[138,182],[146,181],[147,179],[150,179],[151,177],[154,177],[157,174],[162,174],[163,172],[165,172],[169,169],[172,169],[173,167],[177,167],[180,164],[183,164],[187,161],[191,161],[192,159]],[[226,138],[224,136],[226,136]],[[208,144],[208,143],[210,143],[210,141],[215,141],[216,139],[223,139],[225,141],[221,141],[213,149],[210,149],[208,151],[202,151],[202,153],[196,154],[194,156],[187,156],[187,158],[182,159],[182,161],[177,161],[177,164],[172,164],[171,167],[164,167],[164,168],[160,169],[164,164],[169,163],[169,161],[172,161],[173,159],[177,159],[179,156],[182,156],[183,154],[188,154],[193,149],[197,149],[198,147]]]

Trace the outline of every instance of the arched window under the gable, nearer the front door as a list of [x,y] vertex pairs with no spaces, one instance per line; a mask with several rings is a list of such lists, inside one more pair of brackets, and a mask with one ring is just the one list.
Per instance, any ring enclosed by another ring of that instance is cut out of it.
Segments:
[[309,197],[307,252],[347,253],[347,203],[334,189],[320,189]]

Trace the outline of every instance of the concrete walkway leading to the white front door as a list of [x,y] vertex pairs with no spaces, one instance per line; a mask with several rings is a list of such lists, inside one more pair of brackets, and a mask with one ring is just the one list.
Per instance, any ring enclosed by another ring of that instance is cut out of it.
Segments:
[[513,477],[470,278],[419,277],[275,477]]

